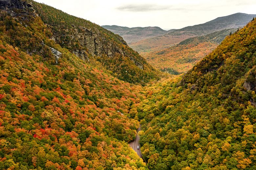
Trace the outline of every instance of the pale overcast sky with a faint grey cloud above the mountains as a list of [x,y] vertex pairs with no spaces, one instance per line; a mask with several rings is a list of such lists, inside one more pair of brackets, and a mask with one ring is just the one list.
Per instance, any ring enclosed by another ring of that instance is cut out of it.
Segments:
[[98,25],[183,28],[237,12],[256,14],[256,0],[36,0]]

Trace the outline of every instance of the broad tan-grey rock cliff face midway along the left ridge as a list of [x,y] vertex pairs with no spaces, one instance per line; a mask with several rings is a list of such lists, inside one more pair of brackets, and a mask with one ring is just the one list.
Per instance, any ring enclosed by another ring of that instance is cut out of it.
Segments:
[[[72,25],[71,28],[57,27],[56,31],[53,32],[52,39],[57,44],[67,48],[72,47],[72,52],[81,59],[89,61],[88,53],[92,56],[107,55],[108,57],[113,57],[116,53],[121,54],[123,57],[125,56],[125,52],[120,47],[117,47],[115,43],[102,38],[102,33],[97,28],[92,30],[91,28],[75,25]],[[126,45],[125,41],[121,41]]]

